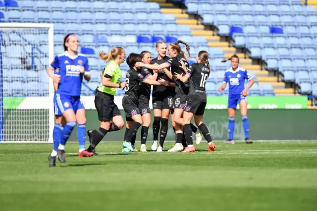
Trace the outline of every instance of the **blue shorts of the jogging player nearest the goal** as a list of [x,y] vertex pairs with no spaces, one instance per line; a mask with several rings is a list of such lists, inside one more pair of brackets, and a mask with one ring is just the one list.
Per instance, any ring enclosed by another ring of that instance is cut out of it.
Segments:
[[[54,96],[54,104],[57,105],[57,113],[63,113],[65,110],[73,109],[74,113],[79,109],[85,109],[83,102],[80,100],[80,96],[68,96],[68,95],[60,95],[55,94]],[[56,110],[55,110],[56,111]],[[55,112],[55,115],[56,114]]]

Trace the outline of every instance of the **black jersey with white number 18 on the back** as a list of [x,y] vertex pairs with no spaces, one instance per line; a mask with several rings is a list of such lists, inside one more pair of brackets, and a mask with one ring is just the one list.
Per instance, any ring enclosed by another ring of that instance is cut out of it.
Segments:
[[207,101],[206,82],[209,76],[207,65],[203,63],[193,63],[188,68],[187,74],[190,76],[189,98],[203,102]]

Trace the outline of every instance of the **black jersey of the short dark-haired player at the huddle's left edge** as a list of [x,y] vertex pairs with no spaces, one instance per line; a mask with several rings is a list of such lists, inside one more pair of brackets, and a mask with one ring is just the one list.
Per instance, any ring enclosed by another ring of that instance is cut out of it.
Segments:
[[125,87],[125,97],[131,97],[134,99],[138,99],[138,91],[146,78],[135,69],[131,68],[128,70],[127,74],[125,75],[125,80],[127,85]]

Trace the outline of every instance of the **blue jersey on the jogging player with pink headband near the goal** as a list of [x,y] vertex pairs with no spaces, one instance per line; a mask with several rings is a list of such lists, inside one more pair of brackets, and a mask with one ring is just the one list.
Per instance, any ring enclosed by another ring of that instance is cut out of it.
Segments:
[[55,56],[51,63],[54,75],[60,75],[57,94],[80,96],[83,74],[80,73],[80,66],[85,67],[85,73],[90,72],[88,58],[81,53],[70,56],[67,52]]

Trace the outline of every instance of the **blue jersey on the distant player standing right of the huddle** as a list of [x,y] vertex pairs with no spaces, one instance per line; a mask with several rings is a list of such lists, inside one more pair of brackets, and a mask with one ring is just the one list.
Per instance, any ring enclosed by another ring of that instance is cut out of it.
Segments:
[[223,83],[229,83],[229,95],[239,95],[244,90],[245,79],[251,79],[246,69],[238,67],[235,71],[230,67],[225,73]]

